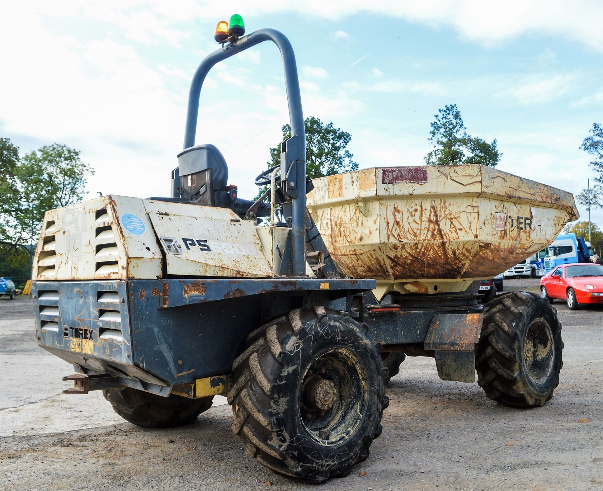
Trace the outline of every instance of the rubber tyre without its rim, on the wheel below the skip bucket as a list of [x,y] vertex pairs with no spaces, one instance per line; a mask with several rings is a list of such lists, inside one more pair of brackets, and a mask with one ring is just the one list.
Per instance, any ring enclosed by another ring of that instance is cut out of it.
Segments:
[[[550,390],[538,394],[522,372],[523,337],[531,312],[551,309],[551,329],[559,353],[559,367],[554,367],[554,378],[549,381]],[[478,384],[489,399],[513,407],[538,407],[549,401],[559,384],[559,372],[563,367],[563,341],[557,310],[547,299],[531,293],[514,291],[492,300],[484,309],[484,323],[476,349]],[[522,329],[516,329],[522,326]]]

